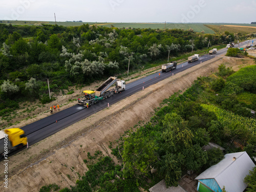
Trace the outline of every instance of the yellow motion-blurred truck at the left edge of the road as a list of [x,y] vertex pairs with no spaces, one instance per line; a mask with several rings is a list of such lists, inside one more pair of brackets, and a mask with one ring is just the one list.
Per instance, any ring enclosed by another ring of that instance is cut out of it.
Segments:
[[27,145],[27,142],[28,138],[22,129],[11,128],[0,131],[0,154],[2,156],[7,155],[11,151]]

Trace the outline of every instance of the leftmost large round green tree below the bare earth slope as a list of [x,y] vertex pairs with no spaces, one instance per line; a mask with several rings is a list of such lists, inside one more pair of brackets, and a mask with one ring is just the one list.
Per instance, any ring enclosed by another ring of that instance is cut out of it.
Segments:
[[151,166],[157,161],[157,149],[154,140],[145,137],[140,130],[127,137],[122,153],[124,176],[137,179],[147,176]]

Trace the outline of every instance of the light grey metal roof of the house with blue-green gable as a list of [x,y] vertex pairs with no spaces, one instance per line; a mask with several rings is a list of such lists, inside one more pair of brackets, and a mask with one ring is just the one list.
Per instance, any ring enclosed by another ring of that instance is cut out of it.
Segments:
[[[247,185],[244,178],[249,170],[255,166],[246,152],[226,154],[218,164],[206,169],[196,179],[214,178],[221,188],[225,186],[227,191],[242,192]],[[233,157],[236,160],[233,161]]]

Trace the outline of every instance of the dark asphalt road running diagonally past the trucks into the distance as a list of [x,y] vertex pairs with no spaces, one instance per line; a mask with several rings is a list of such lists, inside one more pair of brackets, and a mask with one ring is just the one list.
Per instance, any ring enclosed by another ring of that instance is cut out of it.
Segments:
[[[238,45],[236,45],[235,47],[238,47]],[[192,63],[188,63],[188,62],[181,63],[180,65],[177,66],[177,69],[174,69],[170,72],[156,72],[155,74],[149,75],[147,77],[144,77],[134,82],[131,82],[129,84],[126,84],[125,91],[118,94],[114,94],[111,97],[90,106],[88,109],[84,108],[82,105],[77,104],[72,106],[71,108],[61,110],[56,114],[53,113],[50,115],[50,112],[49,112],[48,117],[44,119],[40,119],[24,127],[21,127],[21,129],[25,131],[28,137],[29,145],[32,145],[42,139],[45,139],[57,133],[62,129],[65,129],[66,127],[74,124],[75,122],[78,122],[104,108],[107,108],[108,103],[112,105],[124,99],[125,97],[129,97],[130,95],[133,95],[138,91],[141,91],[143,87],[145,89],[151,86],[152,84],[155,84],[165,78],[173,76],[173,73],[177,74],[179,72],[182,72],[190,67],[198,65],[201,62],[210,60],[216,56],[218,57],[219,55],[225,53],[226,51],[227,49],[224,48],[224,49],[218,50],[217,54],[203,55],[199,58],[198,61],[195,61]],[[158,75],[159,73],[160,73],[160,76]]]

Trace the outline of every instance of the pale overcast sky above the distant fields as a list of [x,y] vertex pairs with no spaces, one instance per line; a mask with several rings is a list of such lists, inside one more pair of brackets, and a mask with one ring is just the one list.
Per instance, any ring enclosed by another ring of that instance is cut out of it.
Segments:
[[108,23],[256,22],[256,0],[0,0],[0,20]]

